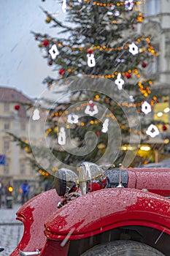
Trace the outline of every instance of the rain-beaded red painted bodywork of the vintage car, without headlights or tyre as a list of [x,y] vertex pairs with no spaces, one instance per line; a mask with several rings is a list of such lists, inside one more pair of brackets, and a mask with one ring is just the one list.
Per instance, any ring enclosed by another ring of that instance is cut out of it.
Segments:
[[72,240],[124,225],[144,225],[170,234],[170,200],[160,196],[170,195],[170,168],[126,171],[128,188],[90,192],[60,209],[57,209],[57,203],[61,197],[55,189],[34,197],[17,213],[25,230],[20,244],[10,256],[18,256],[19,249],[24,252],[40,249],[40,256],[66,256],[69,241],[65,246],[61,243],[68,233],[68,239]]

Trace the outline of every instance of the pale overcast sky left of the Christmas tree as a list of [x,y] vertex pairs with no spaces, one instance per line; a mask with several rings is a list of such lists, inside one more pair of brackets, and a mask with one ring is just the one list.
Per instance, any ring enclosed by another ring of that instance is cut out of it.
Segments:
[[28,97],[39,97],[46,86],[42,80],[47,75],[55,76],[53,68],[42,58],[37,41],[31,31],[56,34],[45,23],[46,15],[39,8],[50,13],[63,12],[56,0],[0,0],[0,86],[15,87]]

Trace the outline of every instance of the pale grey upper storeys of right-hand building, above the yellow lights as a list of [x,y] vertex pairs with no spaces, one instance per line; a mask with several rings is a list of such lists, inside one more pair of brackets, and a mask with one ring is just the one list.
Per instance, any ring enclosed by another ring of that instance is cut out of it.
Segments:
[[142,6],[142,30],[152,39],[159,56],[150,63],[148,72],[155,78],[152,90],[159,90],[164,97],[170,92],[170,1],[145,0]]

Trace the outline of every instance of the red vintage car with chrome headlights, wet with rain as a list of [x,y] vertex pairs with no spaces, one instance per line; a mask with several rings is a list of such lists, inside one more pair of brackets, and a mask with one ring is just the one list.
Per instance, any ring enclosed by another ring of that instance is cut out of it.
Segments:
[[17,212],[23,238],[11,256],[170,255],[170,168],[56,172],[55,189]]

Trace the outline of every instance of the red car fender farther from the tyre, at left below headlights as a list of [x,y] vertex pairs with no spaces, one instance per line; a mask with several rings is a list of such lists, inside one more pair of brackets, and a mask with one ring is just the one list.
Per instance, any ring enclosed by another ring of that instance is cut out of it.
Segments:
[[44,223],[47,218],[57,211],[57,204],[61,200],[55,189],[48,190],[33,197],[18,210],[16,219],[23,222],[24,232],[20,243],[10,256],[18,256],[19,250],[33,252],[41,250],[46,237]]

